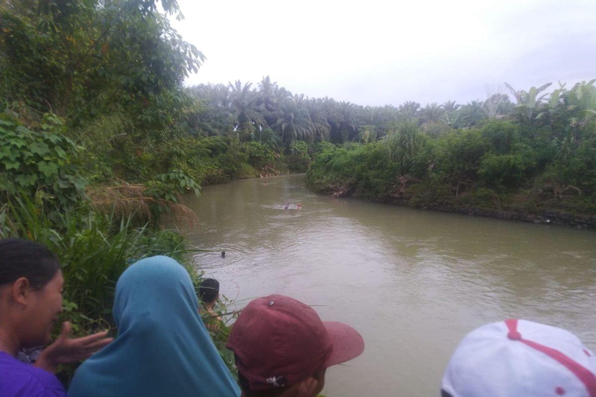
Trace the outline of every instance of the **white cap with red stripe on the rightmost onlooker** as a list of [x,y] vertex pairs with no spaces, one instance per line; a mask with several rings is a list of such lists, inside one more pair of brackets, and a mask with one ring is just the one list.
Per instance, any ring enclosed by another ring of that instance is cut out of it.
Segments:
[[572,333],[525,320],[482,326],[461,341],[442,397],[595,397],[596,358]]

